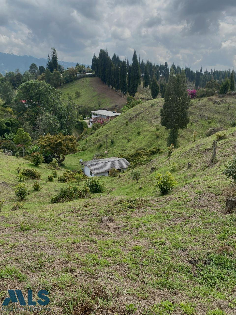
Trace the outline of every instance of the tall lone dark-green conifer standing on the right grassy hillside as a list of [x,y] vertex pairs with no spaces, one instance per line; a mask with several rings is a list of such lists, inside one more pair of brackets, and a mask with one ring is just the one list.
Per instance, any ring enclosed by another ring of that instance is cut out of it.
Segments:
[[175,75],[171,69],[169,83],[165,93],[165,102],[160,110],[161,125],[170,129],[167,146],[177,146],[178,129],[185,129],[189,123],[188,108],[190,98],[187,92],[184,70]]

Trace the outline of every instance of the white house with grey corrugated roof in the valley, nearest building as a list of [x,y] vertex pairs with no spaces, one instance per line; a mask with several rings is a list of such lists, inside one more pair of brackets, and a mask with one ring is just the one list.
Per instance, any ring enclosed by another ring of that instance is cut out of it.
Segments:
[[111,169],[126,170],[130,163],[125,158],[108,157],[98,160],[81,162],[84,165],[84,174],[88,177],[108,176]]

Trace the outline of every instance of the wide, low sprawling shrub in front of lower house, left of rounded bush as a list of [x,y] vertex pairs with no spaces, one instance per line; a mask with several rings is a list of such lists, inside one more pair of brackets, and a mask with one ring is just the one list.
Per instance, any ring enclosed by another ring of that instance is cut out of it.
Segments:
[[51,198],[52,203],[59,203],[68,200],[76,200],[80,198],[89,198],[89,188],[85,184],[81,189],[78,186],[72,187],[68,186],[66,188],[61,188],[60,192]]

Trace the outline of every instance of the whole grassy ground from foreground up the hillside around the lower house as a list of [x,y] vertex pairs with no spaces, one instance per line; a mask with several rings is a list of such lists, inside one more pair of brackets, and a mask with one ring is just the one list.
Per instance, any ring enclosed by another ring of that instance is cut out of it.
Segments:
[[[166,152],[156,154],[151,162],[139,166],[138,184],[131,179],[131,170],[121,178],[101,177],[106,191],[89,199],[50,203],[61,187],[77,184],[57,179],[46,183],[52,173],[47,165],[36,168],[22,158],[0,153],[0,199],[6,200],[0,213],[1,301],[7,289],[25,293],[31,288],[33,292],[49,290],[49,307],[55,314],[235,314],[236,214],[224,213],[230,181],[222,175],[225,163],[236,153],[236,127],[229,128],[235,117],[235,99],[224,100],[220,105],[207,99],[194,101],[190,108],[193,125],[181,131],[181,146],[170,157]],[[159,123],[161,100],[155,106],[150,106],[152,102],[122,114],[128,119],[137,113],[128,126],[126,118],[119,123],[118,117],[98,129],[98,136],[95,133],[88,142],[81,141],[88,149],[66,157],[66,167],[80,169],[81,154],[91,158],[98,151],[97,137],[102,139],[108,127],[117,135],[114,155],[121,148],[133,152],[141,146],[158,146],[158,141],[165,149],[166,131],[161,128],[156,140],[152,136]],[[156,121],[153,118],[147,126],[147,113],[154,110]],[[211,125],[226,129],[226,139],[217,142],[214,165],[210,159],[216,135],[205,137],[206,115]],[[122,135],[116,133],[118,126]],[[193,142],[195,130],[198,139]],[[125,145],[128,136],[131,140]],[[192,163],[189,169],[188,162]],[[177,187],[161,196],[155,176],[171,171],[173,163]],[[34,180],[25,180],[30,194],[22,209],[11,211],[18,200],[14,196],[17,167],[42,172],[42,189],[34,192]],[[58,176],[63,170],[57,171]],[[103,222],[104,215],[113,220]]]

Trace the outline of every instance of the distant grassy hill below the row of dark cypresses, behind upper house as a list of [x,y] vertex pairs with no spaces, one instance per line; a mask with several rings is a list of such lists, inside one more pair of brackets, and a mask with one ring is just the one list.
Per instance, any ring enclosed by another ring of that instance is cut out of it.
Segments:
[[[109,89],[97,77],[81,78],[75,82],[66,83],[59,89],[63,92],[63,99],[67,100],[68,95],[72,97],[81,113],[88,113],[99,108],[112,110],[115,108],[115,105],[119,109],[126,103],[125,97],[121,97],[121,95]],[[80,91],[80,97],[76,97],[76,91]],[[100,107],[98,102],[100,102]]]

